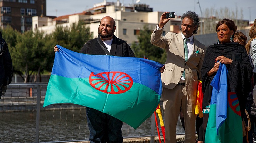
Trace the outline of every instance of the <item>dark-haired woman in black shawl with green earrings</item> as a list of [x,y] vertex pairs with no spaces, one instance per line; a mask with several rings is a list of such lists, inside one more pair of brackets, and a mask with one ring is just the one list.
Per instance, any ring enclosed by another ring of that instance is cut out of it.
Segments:
[[241,114],[244,114],[247,95],[251,90],[252,66],[244,46],[233,41],[236,30],[237,27],[234,21],[226,18],[219,21],[216,25],[219,40],[216,44],[209,46],[205,53],[201,69],[204,93],[202,105],[204,138],[213,89],[210,84],[219,69],[220,63],[225,64],[228,70],[228,91],[236,92]]

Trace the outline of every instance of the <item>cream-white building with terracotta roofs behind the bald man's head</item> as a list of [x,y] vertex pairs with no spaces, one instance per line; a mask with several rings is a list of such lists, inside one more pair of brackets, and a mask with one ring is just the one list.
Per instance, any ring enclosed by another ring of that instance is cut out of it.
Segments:
[[[147,12],[153,11],[152,8],[143,5],[144,7],[137,7],[138,11],[133,7],[121,6],[119,3],[110,3],[104,0],[104,2],[96,4],[95,7],[87,12],[60,16],[55,19],[47,17],[35,16],[32,19],[32,29],[38,29],[44,31],[46,34],[52,33],[55,30],[56,24],[62,27],[70,27],[74,22],[80,20],[87,21],[86,26],[90,27],[90,32],[93,34],[93,38],[98,36],[98,26],[100,25],[100,19],[105,16],[110,16],[116,21],[115,35],[126,41],[128,44],[137,42],[137,35],[139,31],[143,29],[144,25],[148,25],[150,29],[154,29],[159,23],[160,16],[163,12]],[[92,14],[91,11],[94,13]],[[146,12],[143,12],[146,11]],[[91,15],[89,15],[91,14]],[[179,32],[180,18],[174,18],[165,25],[163,35],[169,31]]]

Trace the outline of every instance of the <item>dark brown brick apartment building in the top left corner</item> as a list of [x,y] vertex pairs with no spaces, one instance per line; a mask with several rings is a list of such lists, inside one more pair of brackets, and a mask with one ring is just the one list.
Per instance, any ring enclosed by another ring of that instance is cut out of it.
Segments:
[[0,0],[1,29],[10,25],[17,31],[32,29],[33,16],[46,15],[46,0]]

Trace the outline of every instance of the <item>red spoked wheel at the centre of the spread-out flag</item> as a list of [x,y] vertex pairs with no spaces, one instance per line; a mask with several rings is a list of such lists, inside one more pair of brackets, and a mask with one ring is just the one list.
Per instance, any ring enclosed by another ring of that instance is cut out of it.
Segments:
[[132,78],[124,72],[101,72],[98,74],[92,72],[89,82],[96,90],[110,94],[124,93],[133,85]]

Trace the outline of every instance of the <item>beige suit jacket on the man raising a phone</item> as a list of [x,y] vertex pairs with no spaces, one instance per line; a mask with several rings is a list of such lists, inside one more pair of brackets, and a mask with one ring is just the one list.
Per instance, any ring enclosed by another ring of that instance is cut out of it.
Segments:
[[[176,34],[168,32],[161,37],[162,30],[155,30],[151,35],[151,44],[165,49],[167,58],[165,62],[165,71],[161,74],[162,85],[164,88],[173,89],[182,76],[185,69],[185,84],[189,95],[196,95],[197,80],[201,76],[201,67],[206,52],[205,46],[195,38],[193,44],[193,53],[187,62],[185,62],[184,42],[181,33]],[[201,78],[200,78],[201,79]]]

